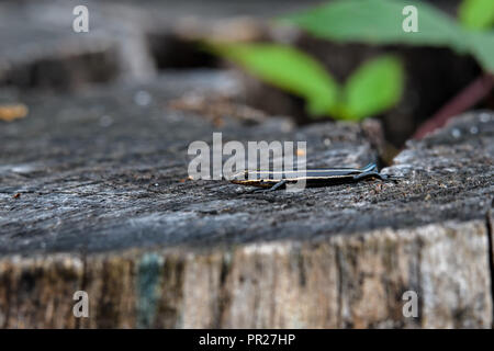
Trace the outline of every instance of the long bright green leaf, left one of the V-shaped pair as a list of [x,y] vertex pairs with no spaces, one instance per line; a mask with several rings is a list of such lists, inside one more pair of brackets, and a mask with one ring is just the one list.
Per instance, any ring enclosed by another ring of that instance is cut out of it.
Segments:
[[338,99],[335,79],[314,58],[278,44],[211,44],[213,52],[280,89],[306,100],[307,112],[328,115]]

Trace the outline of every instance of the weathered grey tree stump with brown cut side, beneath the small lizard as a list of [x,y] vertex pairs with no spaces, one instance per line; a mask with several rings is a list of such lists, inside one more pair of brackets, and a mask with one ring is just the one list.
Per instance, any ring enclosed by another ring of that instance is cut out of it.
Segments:
[[203,71],[24,97],[30,114],[0,129],[1,326],[491,327],[492,112],[409,143],[383,170],[400,182],[248,194],[186,180],[189,144],[307,140],[311,167],[357,167],[378,159],[377,127],[169,107],[234,88]]

